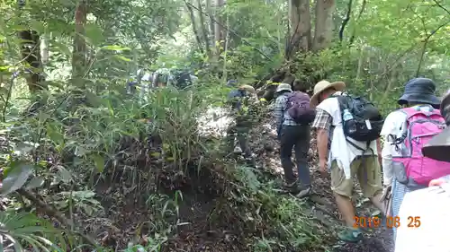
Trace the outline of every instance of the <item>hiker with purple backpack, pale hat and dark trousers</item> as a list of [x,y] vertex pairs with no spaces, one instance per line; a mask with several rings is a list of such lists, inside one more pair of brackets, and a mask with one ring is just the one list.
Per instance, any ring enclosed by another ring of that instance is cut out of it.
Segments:
[[[293,91],[291,84],[281,83],[275,91],[274,116],[280,140],[280,159],[284,169],[284,188],[298,197],[311,193],[311,176],[308,167],[310,150],[310,125],[315,117],[310,108],[310,96],[302,91]],[[298,171],[298,181],[293,174],[293,161]]]

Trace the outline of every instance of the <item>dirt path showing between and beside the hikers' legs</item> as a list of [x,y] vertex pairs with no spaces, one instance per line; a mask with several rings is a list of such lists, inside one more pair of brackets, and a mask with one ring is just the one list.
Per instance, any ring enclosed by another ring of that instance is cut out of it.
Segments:
[[[275,126],[273,126],[271,118],[267,118],[261,125],[262,128],[255,129],[252,135],[252,147],[256,152],[258,160],[264,169],[279,176],[282,179],[283,169],[279,160],[279,143],[275,136]],[[262,135],[261,135],[262,133]],[[311,137],[311,150],[309,163],[311,165],[311,173],[313,174],[313,191],[314,195],[308,200],[311,205],[311,213],[315,218],[320,220],[330,230],[336,231],[342,227],[340,214],[336,207],[334,196],[329,187],[329,178],[321,178],[320,173],[316,170],[317,153],[315,137]],[[371,216],[376,210],[374,206],[361,196],[361,191],[356,187],[356,214],[357,216]],[[365,238],[356,243],[344,243],[333,240],[333,251],[374,251],[374,252],[393,252],[392,230],[385,227],[365,230]]]

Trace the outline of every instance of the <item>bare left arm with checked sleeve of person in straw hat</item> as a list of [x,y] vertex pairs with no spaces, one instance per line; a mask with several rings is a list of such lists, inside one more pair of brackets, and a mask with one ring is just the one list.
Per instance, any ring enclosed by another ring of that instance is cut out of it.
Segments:
[[323,109],[316,109],[316,117],[312,127],[317,129],[317,151],[319,160],[326,161],[329,155],[329,127],[332,123],[332,117]]

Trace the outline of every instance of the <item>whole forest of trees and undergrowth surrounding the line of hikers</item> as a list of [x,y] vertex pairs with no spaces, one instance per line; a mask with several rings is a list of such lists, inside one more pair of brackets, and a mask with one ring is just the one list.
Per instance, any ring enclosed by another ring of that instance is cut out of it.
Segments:
[[[225,161],[199,117],[230,79],[265,97],[287,76],[310,91],[343,81],[384,114],[410,78],[450,84],[448,0],[11,0],[0,13],[2,249],[325,251],[331,228],[277,196],[274,176]],[[198,80],[127,93],[160,68]]]

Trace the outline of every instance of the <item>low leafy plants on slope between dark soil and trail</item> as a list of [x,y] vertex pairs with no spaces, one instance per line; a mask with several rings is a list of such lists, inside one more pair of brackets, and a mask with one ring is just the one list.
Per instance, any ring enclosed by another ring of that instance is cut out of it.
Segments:
[[237,167],[233,174],[239,183],[233,188],[236,205],[231,205],[232,211],[245,212],[239,215],[247,229],[256,231],[268,226],[270,230],[252,239],[254,251],[320,248],[325,234],[320,234],[323,228],[319,224],[311,222],[313,217],[306,211],[310,206],[291,196],[275,193],[275,184],[261,183],[262,177],[255,169]]

